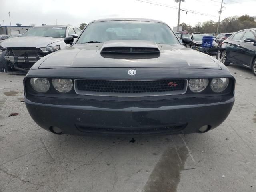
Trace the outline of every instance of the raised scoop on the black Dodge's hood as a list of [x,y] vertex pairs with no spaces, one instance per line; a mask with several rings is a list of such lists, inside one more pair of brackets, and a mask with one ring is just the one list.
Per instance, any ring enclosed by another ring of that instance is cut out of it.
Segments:
[[106,41],[102,45],[101,53],[106,54],[143,54],[160,53],[157,44],[142,40],[114,40]]

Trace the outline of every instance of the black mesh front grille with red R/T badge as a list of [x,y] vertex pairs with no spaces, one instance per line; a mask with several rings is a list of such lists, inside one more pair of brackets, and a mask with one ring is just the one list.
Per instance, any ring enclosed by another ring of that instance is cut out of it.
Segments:
[[186,80],[152,81],[111,81],[111,80],[76,80],[76,89],[84,92],[144,94],[179,92],[186,88]]

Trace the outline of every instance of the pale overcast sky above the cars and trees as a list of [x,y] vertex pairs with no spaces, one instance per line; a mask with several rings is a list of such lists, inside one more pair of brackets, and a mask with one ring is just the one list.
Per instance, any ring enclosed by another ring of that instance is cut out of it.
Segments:
[[[174,0],[1,0],[0,24],[72,24],[79,26],[99,18],[152,18],[162,20],[171,27],[177,25],[178,3]],[[168,8],[164,6],[174,8]],[[218,22],[218,10],[221,0],[185,0],[181,7],[194,12],[212,15],[200,15],[181,12],[180,23],[186,22],[194,26],[198,21],[214,20]],[[249,14],[256,16],[256,0],[224,0],[221,20],[228,16]]]

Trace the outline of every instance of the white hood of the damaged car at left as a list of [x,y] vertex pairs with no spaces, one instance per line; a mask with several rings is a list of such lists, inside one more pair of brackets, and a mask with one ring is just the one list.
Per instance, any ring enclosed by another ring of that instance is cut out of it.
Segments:
[[46,47],[54,42],[63,41],[64,38],[54,37],[18,37],[1,42],[1,47]]

